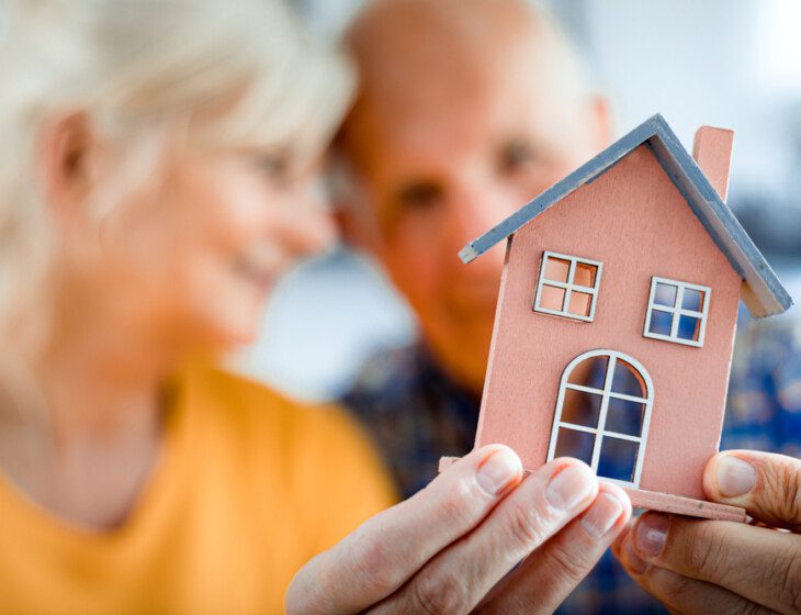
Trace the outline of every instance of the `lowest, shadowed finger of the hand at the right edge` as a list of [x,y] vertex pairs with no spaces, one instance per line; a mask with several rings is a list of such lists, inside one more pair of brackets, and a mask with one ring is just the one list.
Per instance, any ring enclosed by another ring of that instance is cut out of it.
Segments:
[[682,615],[708,615],[709,613],[768,615],[776,613],[712,583],[682,577],[665,568],[648,566],[638,556],[631,535],[622,541],[618,559],[632,579],[662,602],[670,613],[681,613]]

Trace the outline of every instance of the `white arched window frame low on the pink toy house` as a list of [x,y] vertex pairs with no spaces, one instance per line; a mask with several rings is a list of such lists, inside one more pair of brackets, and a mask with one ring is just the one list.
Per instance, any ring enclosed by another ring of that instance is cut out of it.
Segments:
[[[568,382],[568,379],[571,377],[571,373],[573,372],[573,369],[578,366],[579,364],[591,359],[594,357],[607,357],[607,373],[606,379],[603,381],[603,389],[596,389],[594,387],[585,387],[582,384],[573,384]],[[616,393],[612,391],[612,380],[614,378],[614,369],[617,368],[618,360],[623,360],[630,366],[632,366],[634,369],[638,370],[640,376],[643,379],[643,382],[645,383],[645,398],[638,398],[634,395],[627,395],[623,393]],[[562,421],[562,409],[565,401],[565,391],[566,390],[573,390],[573,391],[582,391],[585,393],[594,393],[597,395],[601,395],[601,404],[600,404],[600,412],[598,415],[598,426],[597,427],[587,427],[585,425],[576,425],[575,423],[566,423]],[[643,423],[642,423],[642,431],[640,432],[640,436],[631,436],[629,434],[620,434],[618,432],[609,432],[606,428],[607,424],[607,412],[609,410],[609,400],[610,399],[618,399],[623,401],[630,401],[630,402],[636,402],[642,403],[645,405],[645,411],[643,413]],[[654,383],[651,380],[651,376],[648,374],[647,370],[643,367],[643,365],[634,359],[633,357],[630,357],[629,355],[625,355],[623,353],[619,353],[617,350],[609,350],[609,349],[600,349],[600,350],[590,350],[588,353],[584,353],[583,355],[579,355],[575,359],[573,359],[565,370],[562,372],[562,380],[560,381],[559,387],[559,398],[556,399],[556,413],[553,417],[553,428],[551,429],[551,441],[549,444],[548,448],[548,460],[551,461],[554,458],[554,455],[556,452],[556,440],[559,438],[559,431],[560,427],[564,427],[567,429],[573,429],[576,432],[584,432],[587,434],[593,434],[595,437],[595,443],[593,446],[593,458],[589,463],[589,467],[593,469],[594,472],[598,473],[598,463],[600,461],[600,452],[601,452],[601,445],[603,444],[603,438],[611,437],[617,438],[621,440],[628,440],[638,443],[638,454],[636,454],[636,463],[634,466],[634,477],[632,481],[621,481],[619,479],[611,479],[607,477],[598,477],[602,478],[605,481],[613,482],[616,484],[620,484],[622,487],[631,487],[634,489],[640,488],[640,478],[642,474],[643,469],[643,461],[645,460],[645,445],[647,443],[647,436],[648,436],[648,427],[651,426],[651,410],[654,405]]]

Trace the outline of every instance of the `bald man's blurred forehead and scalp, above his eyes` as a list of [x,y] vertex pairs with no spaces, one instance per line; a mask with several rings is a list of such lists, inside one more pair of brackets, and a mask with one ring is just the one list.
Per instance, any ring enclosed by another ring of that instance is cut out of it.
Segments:
[[519,0],[377,0],[349,41],[362,82],[343,134],[360,166],[471,138],[550,141],[560,125],[568,136],[584,100],[566,42]]

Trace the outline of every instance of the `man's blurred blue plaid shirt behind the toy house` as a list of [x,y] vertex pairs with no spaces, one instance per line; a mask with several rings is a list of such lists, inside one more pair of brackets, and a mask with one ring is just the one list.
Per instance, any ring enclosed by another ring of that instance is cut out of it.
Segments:
[[[449,380],[425,348],[375,357],[343,402],[372,432],[405,496],[437,476],[440,457],[473,448],[480,400]],[[722,448],[801,457],[801,326],[741,324]],[[666,611],[607,552],[559,613]]]

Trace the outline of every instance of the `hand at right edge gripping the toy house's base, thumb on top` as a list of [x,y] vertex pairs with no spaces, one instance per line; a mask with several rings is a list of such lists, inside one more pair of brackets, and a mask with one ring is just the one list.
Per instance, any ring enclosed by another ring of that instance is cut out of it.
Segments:
[[758,526],[646,513],[613,547],[628,572],[674,613],[801,613],[801,462],[721,452],[703,485]]

